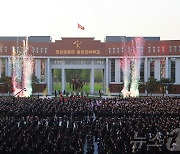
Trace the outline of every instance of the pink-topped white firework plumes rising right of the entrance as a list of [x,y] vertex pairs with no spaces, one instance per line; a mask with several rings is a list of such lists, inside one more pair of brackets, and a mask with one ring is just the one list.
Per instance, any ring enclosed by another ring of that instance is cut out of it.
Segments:
[[[131,59],[132,66],[130,66],[130,59],[128,59],[127,53],[124,55],[124,60],[122,61],[121,68],[123,70],[123,79],[124,86],[121,91],[123,97],[138,97],[139,96],[139,78],[140,78],[140,64],[141,64],[141,55],[142,55],[142,47],[144,40],[143,38],[137,37],[131,43],[132,55],[133,59]],[[130,84],[130,72],[131,72],[131,85],[129,91]]]

